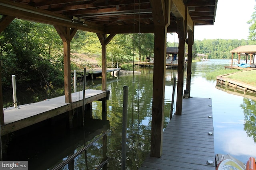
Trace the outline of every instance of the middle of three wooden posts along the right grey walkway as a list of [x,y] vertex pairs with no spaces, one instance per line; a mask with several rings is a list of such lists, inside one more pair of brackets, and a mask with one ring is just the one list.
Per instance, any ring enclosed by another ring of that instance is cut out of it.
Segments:
[[182,113],[183,84],[184,84],[184,55],[185,55],[185,23],[183,18],[177,18],[178,35],[179,35],[179,52],[178,52],[178,83],[177,83],[177,104],[176,115]]

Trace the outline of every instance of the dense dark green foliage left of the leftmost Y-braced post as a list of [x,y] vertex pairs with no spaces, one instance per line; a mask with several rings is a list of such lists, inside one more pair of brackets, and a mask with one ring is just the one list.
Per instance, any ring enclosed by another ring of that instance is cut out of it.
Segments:
[[12,74],[20,88],[63,84],[62,41],[54,31],[51,25],[18,19],[4,29],[0,40],[4,88],[11,86]]

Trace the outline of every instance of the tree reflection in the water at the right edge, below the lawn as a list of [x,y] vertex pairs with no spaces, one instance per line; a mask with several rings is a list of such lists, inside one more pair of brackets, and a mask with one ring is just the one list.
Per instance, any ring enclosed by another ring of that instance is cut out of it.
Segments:
[[244,104],[241,105],[244,110],[245,124],[244,130],[246,131],[248,137],[252,137],[256,143],[256,103],[255,100],[244,98]]

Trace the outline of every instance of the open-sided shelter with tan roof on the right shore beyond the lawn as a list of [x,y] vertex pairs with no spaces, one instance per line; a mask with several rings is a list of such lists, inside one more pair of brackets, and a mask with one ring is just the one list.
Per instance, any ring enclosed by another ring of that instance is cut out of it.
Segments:
[[[232,51],[230,51],[230,53],[232,53],[231,66],[233,66],[234,53],[238,54],[238,64],[240,64],[241,55],[246,55],[246,63],[247,63],[248,55],[250,55],[250,64],[252,64],[254,63],[254,58],[256,55],[256,45],[241,45],[239,47],[236,47]],[[253,62],[252,62],[252,58],[253,58]]]

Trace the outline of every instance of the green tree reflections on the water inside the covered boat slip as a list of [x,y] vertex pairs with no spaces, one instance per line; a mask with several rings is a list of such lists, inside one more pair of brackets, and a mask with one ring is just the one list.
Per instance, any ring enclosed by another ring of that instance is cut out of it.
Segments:
[[[120,77],[108,81],[110,100],[107,101],[107,119],[110,121],[108,135],[108,167],[121,167],[123,87],[128,86],[127,154],[126,166],[137,169],[150,152],[152,119],[152,70],[141,69],[142,74]],[[176,71],[176,70],[175,70]],[[111,79],[110,79],[111,80]],[[173,84],[169,82],[169,84]],[[170,105],[170,103],[169,103]],[[94,102],[93,117],[101,119],[101,103]],[[164,127],[169,122],[170,106],[166,104]],[[115,168],[114,168],[115,167]]]

